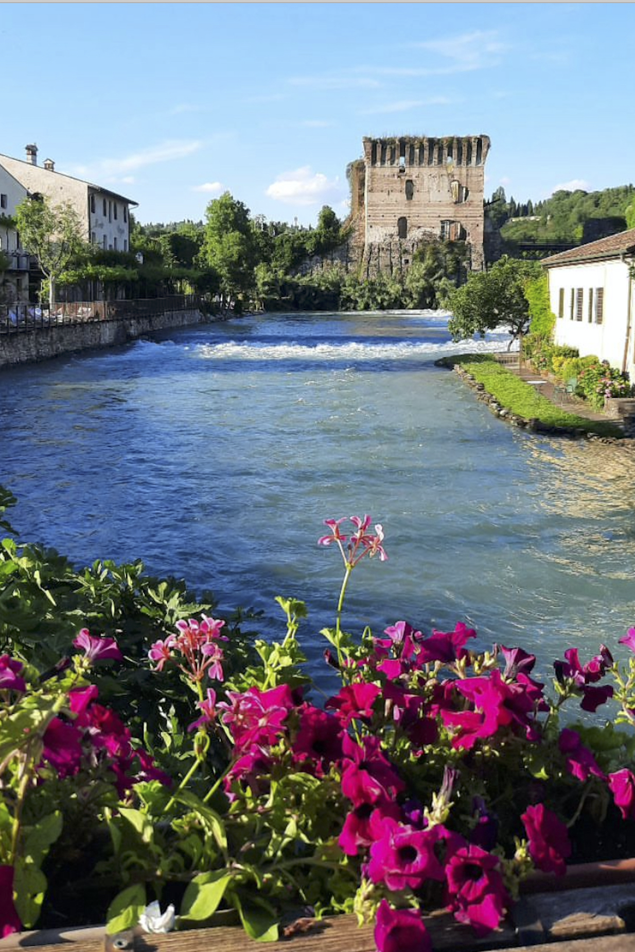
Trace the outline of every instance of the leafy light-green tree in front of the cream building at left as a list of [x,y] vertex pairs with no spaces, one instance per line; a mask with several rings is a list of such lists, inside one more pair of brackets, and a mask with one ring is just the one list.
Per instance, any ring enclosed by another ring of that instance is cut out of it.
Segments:
[[69,202],[52,205],[46,197],[25,198],[15,207],[16,226],[25,248],[49,282],[49,304],[55,303],[55,281],[73,259],[88,249],[79,216]]

